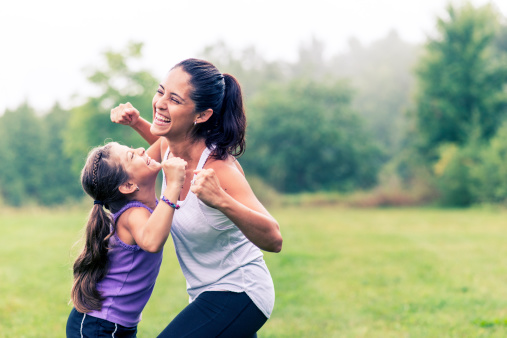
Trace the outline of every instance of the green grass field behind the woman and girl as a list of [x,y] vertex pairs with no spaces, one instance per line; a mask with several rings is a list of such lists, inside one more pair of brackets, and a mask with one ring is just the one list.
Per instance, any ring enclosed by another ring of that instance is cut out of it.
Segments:
[[[507,337],[507,211],[285,208],[259,337]],[[2,210],[0,337],[64,337],[87,212]],[[139,325],[187,304],[172,244]]]

